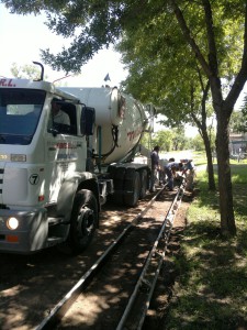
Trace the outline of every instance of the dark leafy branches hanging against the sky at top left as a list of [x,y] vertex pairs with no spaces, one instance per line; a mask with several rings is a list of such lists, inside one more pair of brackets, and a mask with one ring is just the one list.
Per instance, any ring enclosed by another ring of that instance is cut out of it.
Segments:
[[[46,64],[55,70],[66,73],[80,73],[81,66],[97,52],[114,44],[121,37],[124,16],[131,13],[132,8],[130,7],[132,1],[117,0],[0,0],[0,2],[12,13],[35,15],[45,13],[46,25],[54,33],[71,41],[68,48],[63,47],[56,55],[52,54],[49,48],[42,51]],[[135,12],[137,9],[136,4]]]

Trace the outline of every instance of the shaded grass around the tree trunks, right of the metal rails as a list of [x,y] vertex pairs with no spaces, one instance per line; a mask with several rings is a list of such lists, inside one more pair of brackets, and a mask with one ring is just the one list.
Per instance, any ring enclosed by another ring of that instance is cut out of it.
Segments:
[[166,329],[247,329],[247,166],[234,165],[232,175],[237,235],[223,240],[217,193],[198,174]]

